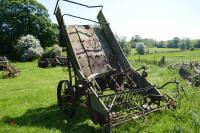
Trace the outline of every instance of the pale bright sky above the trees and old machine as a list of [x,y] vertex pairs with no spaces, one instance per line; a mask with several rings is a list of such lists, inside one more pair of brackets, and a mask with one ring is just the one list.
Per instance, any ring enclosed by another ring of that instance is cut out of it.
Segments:
[[[53,15],[57,0],[37,0]],[[134,35],[155,40],[173,37],[200,39],[200,0],[73,0],[87,5],[103,5],[103,13],[114,33]],[[99,9],[88,9],[61,1],[62,13],[97,20]],[[91,24],[75,18],[65,17],[66,24]]]

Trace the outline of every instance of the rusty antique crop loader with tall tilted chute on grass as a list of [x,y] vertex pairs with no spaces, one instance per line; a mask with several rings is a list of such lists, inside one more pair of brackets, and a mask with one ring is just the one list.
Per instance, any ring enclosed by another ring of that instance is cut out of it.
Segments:
[[[62,0],[87,8],[101,8],[98,21],[62,14],[57,1],[55,15],[59,24],[61,46],[67,49],[69,80],[57,87],[57,99],[62,111],[72,116],[77,103],[85,97],[91,120],[105,132],[161,108],[175,107],[176,101],[139,74],[128,62],[105,19],[102,6],[88,6]],[[96,23],[65,25],[64,16]],[[169,82],[179,84],[178,81]],[[166,83],[161,88],[165,87]],[[83,102],[84,103],[84,102]]]

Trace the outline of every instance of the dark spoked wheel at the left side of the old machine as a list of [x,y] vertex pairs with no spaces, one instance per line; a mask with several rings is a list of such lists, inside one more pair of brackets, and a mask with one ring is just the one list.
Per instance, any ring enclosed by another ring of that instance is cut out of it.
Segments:
[[57,87],[57,100],[60,110],[73,116],[76,110],[76,94],[75,87],[68,80],[62,80]]

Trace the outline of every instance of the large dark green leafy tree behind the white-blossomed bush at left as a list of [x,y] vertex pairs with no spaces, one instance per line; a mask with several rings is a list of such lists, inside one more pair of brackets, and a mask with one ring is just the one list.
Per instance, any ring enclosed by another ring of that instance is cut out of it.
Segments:
[[49,19],[47,9],[36,0],[1,0],[0,48],[11,51],[27,34],[38,38],[43,47],[57,41],[57,26]]

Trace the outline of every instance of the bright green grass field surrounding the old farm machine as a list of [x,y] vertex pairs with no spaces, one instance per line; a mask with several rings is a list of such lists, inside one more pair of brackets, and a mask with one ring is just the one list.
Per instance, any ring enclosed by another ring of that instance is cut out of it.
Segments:
[[[162,57],[188,56],[199,59],[200,51],[157,53],[144,55]],[[129,57],[136,60],[138,55]],[[61,79],[67,78],[62,68],[41,69],[37,62],[13,63],[21,70],[16,78],[0,79],[0,133],[95,133],[101,132],[99,126],[89,119],[87,110],[78,107],[73,118],[63,115],[56,101],[56,87]],[[144,63],[132,62],[135,68]],[[116,133],[198,133],[200,132],[200,91],[190,89],[180,79],[176,70],[150,64],[148,79],[161,86],[166,81],[179,79],[186,90],[188,100],[183,94],[178,98],[176,110],[163,110],[142,119],[129,122],[113,130]],[[174,95],[173,85],[161,90]]]

